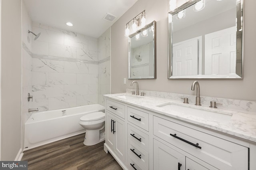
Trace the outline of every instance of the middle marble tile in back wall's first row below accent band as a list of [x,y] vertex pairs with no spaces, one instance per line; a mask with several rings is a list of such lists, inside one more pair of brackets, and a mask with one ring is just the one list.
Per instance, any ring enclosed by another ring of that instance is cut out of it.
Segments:
[[65,73],[88,73],[88,64],[64,61]]

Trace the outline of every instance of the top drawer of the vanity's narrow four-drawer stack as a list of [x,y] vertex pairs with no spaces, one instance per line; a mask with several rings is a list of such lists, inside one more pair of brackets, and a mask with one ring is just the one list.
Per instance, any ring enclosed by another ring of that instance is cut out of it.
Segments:
[[127,119],[129,122],[148,131],[148,113],[128,107]]

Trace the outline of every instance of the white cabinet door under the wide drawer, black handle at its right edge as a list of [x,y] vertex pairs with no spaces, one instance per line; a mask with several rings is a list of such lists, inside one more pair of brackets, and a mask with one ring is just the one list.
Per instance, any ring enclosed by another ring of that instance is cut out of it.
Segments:
[[154,139],[154,170],[185,170],[185,156]]

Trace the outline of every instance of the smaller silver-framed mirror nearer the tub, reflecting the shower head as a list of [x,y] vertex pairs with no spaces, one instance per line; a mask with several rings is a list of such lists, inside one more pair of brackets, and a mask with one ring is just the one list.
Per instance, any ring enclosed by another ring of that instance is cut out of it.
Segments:
[[128,79],[156,79],[156,21],[128,38]]

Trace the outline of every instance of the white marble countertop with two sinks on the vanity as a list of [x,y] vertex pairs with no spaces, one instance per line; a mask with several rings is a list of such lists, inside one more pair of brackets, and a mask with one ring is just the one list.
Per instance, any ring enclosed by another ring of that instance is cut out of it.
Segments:
[[[118,96],[125,96],[127,99],[120,98]],[[168,117],[186,121],[194,125],[217,130],[256,144],[256,113],[253,112],[219,108],[213,109],[205,105],[196,106],[194,103],[184,104],[181,101],[151,96],[136,96],[131,95],[130,93],[107,94],[104,95],[104,97],[106,99],[114,99],[116,101],[140,107]],[[175,109],[172,110],[166,107],[161,107],[168,104],[181,106],[180,108],[184,109],[180,110],[185,111],[176,111]],[[210,111],[208,112],[208,115],[214,116],[208,117],[206,113],[202,115],[191,115],[186,111],[188,108],[192,110],[199,109],[199,111],[196,111],[197,113]]]

